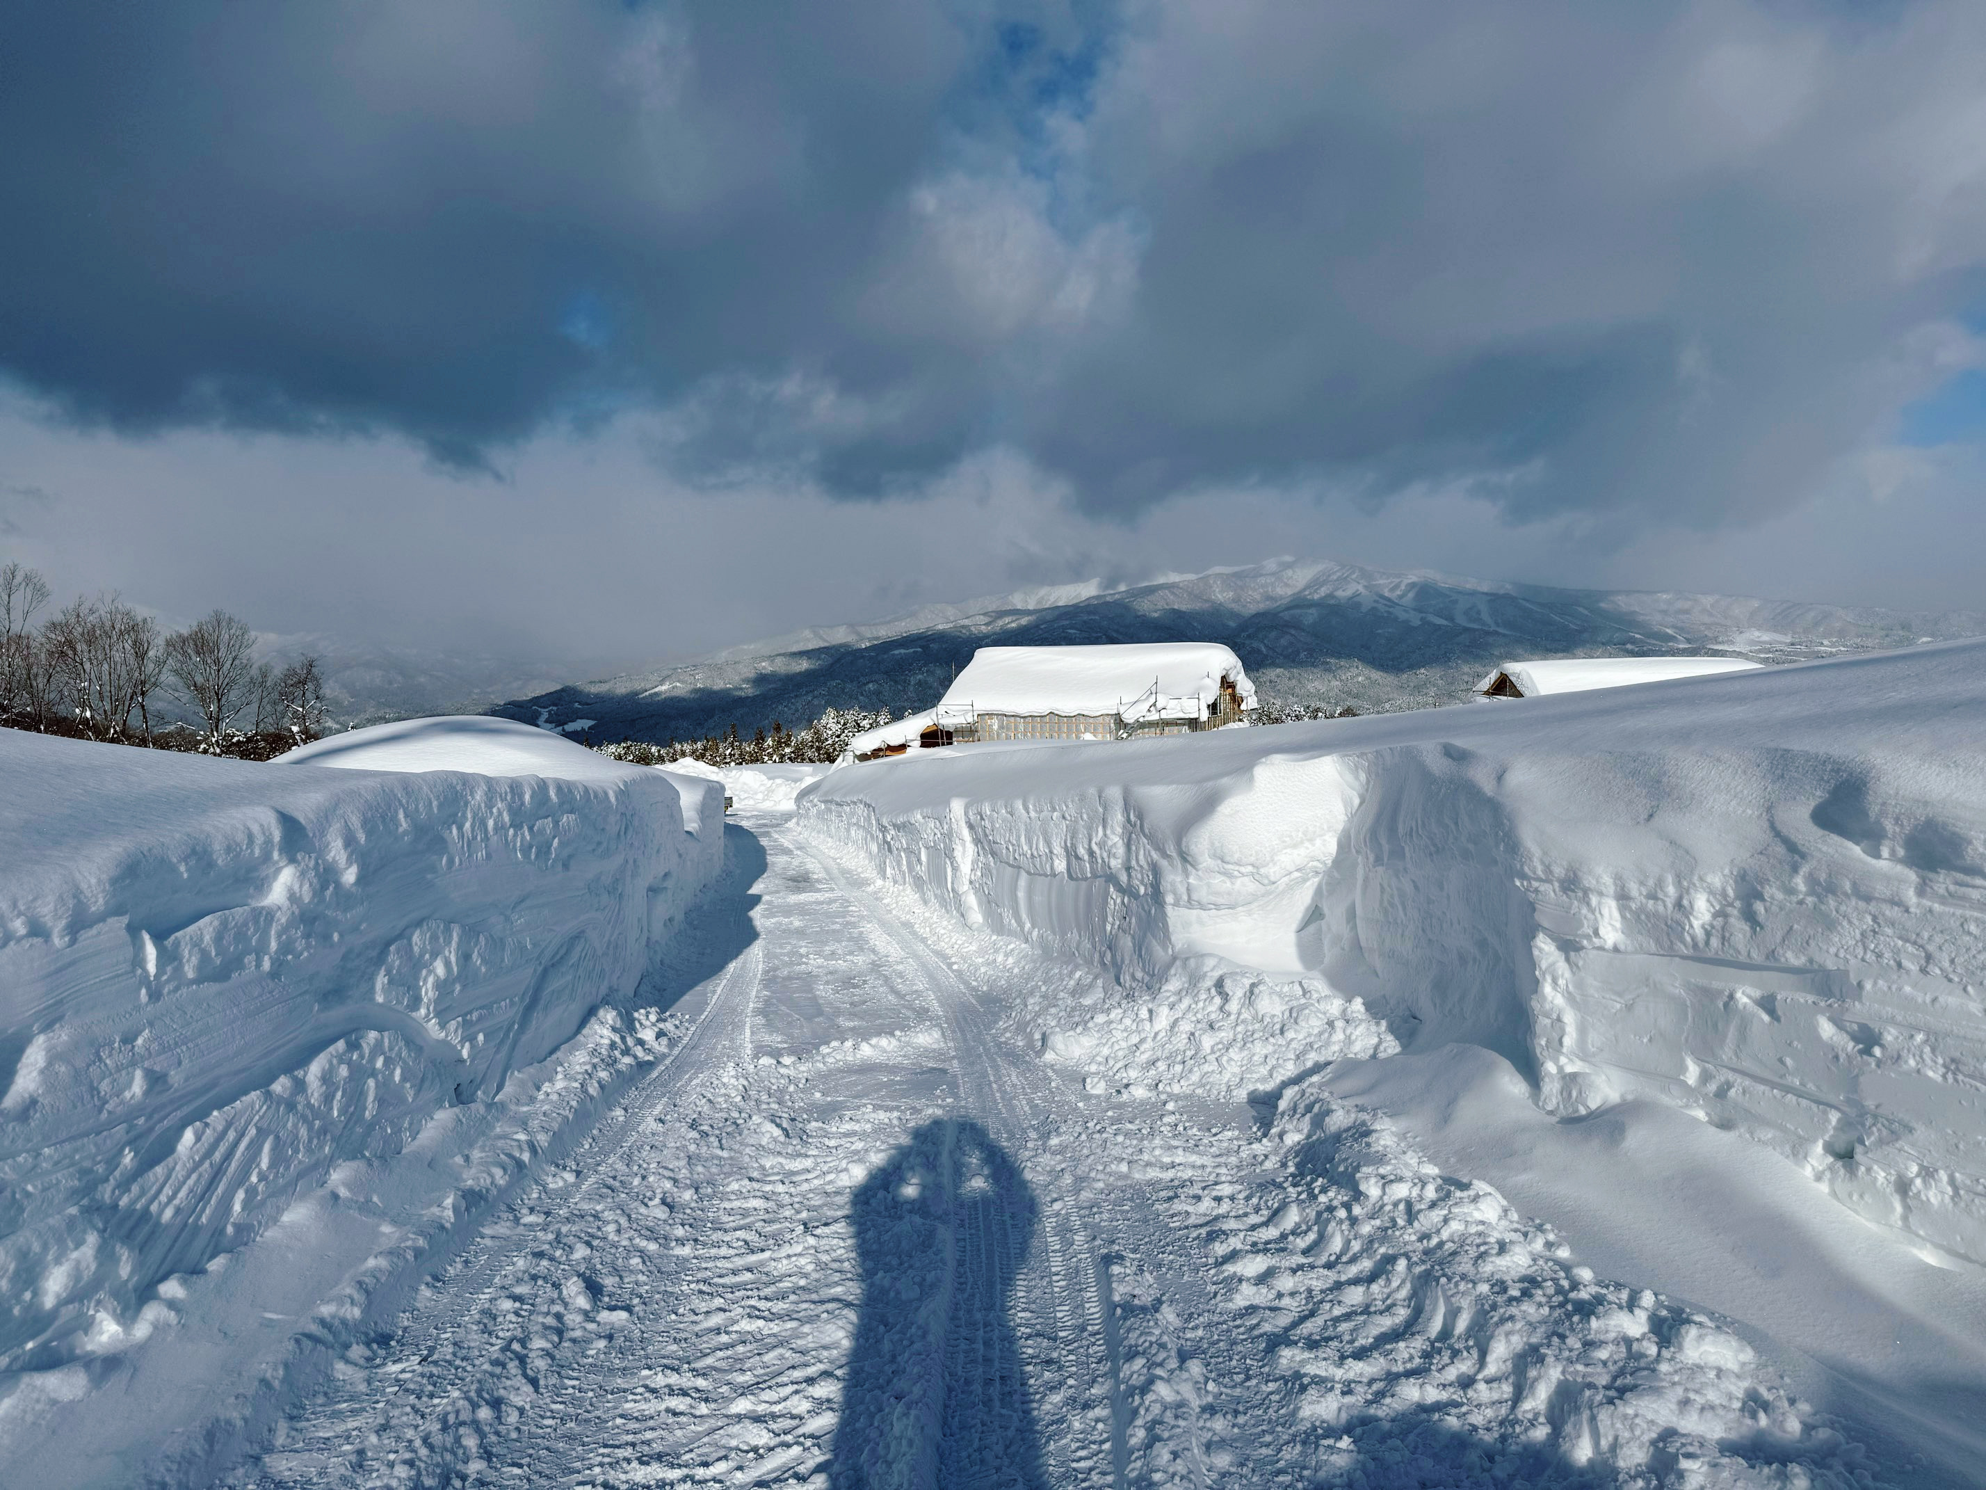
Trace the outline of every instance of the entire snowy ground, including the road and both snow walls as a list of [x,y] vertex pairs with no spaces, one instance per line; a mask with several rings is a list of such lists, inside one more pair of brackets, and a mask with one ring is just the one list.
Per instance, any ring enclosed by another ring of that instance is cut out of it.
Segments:
[[1976,1484],[1982,741],[4,731],[4,1478]]

